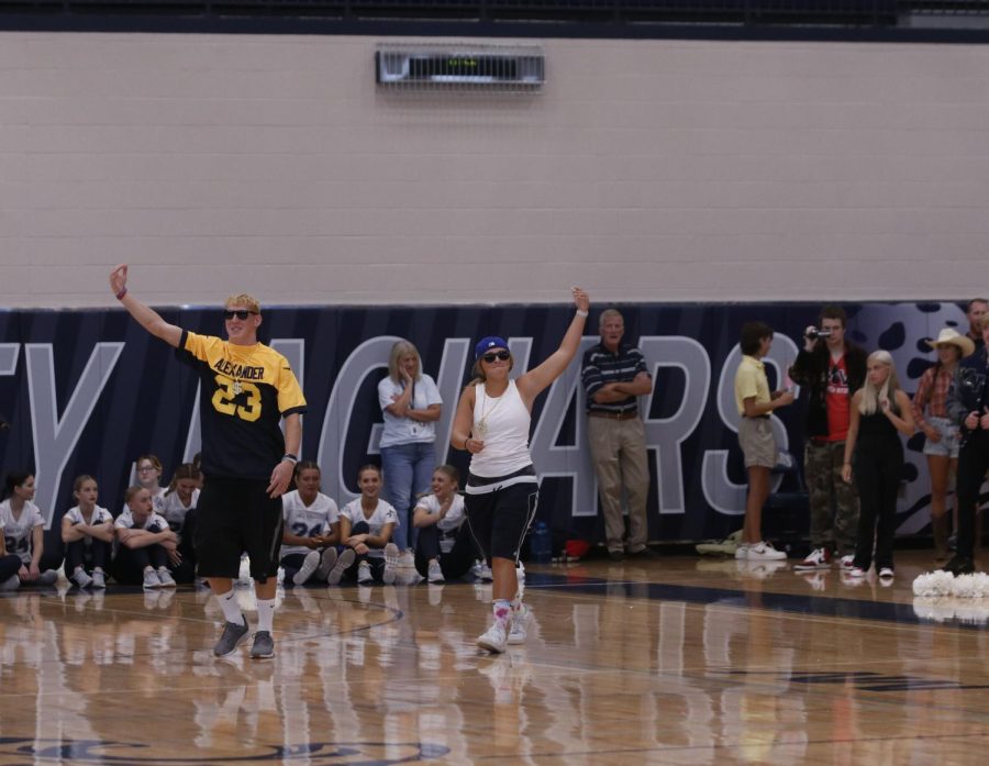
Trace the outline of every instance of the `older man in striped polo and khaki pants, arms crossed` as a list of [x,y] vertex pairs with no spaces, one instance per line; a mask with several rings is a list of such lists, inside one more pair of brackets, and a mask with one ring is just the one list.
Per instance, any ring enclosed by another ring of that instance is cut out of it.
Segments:
[[[598,475],[598,495],[604,514],[604,537],[613,562],[630,556],[652,558],[646,545],[646,498],[649,467],[645,426],[637,397],[653,390],[653,378],[642,352],[629,343],[625,320],[615,309],[601,312],[601,342],[584,354],[581,379],[587,395],[587,438]],[[622,490],[629,498],[629,539],[622,518]]]

